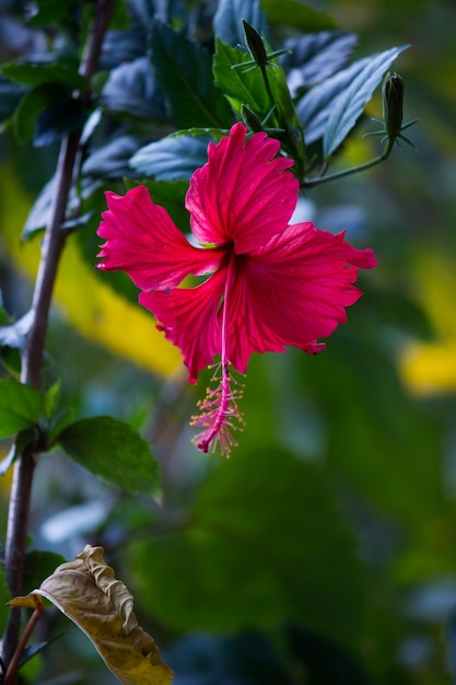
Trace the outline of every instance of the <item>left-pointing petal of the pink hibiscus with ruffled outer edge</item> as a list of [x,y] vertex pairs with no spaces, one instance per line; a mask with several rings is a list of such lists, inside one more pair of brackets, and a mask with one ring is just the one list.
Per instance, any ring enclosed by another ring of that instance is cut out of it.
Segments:
[[108,210],[103,213],[98,235],[106,239],[98,269],[126,271],[143,290],[178,286],[189,274],[218,268],[222,253],[189,244],[167,211],[155,205],[145,186],[125,196],[106,193]]

